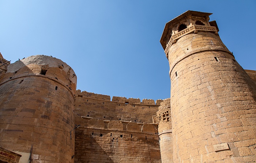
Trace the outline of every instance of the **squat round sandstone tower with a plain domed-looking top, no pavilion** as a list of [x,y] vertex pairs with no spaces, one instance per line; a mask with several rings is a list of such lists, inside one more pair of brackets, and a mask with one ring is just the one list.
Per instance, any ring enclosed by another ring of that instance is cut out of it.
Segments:
[[0,146],[24,163],[74,163],[75,91],[75,72],[59,59],[10,64],[0,83]]

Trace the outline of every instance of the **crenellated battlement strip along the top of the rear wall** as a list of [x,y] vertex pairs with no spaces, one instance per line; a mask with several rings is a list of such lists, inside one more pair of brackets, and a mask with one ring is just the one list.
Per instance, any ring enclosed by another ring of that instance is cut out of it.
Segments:
[[101,94],[94,94],[92,92],[76,90],[76,97],[80,98],[89,98],[89,99],[95,99],[95,100],[102,100],[102,101],[109,101],[109,102],[117,102],[117,103],[123,103],[123,104],[143,104],[143,105],[160,105],[161,102],[163,102],[162,99],[152,100],[152,99],[143,99],[141,100],[135,99],[135,98],[125,98],[125,97],[117,97],[113,96],[112,101],[110,100],[109,95],[101,95]]

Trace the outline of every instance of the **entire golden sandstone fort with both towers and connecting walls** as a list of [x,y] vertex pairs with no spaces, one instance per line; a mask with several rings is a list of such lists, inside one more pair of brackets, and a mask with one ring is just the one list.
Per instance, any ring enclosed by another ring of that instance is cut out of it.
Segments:
[[256,71],[222,43],[211,13],[166,23],[171,96],[76,90],[60,59],[0,55],[0,163],[256,162]]

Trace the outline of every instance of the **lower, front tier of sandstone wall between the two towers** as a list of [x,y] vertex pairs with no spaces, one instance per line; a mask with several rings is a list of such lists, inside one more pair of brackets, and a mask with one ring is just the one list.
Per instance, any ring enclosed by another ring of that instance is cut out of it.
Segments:
[[75,131],[76,163],[161,163],[157,124],[83,119]]

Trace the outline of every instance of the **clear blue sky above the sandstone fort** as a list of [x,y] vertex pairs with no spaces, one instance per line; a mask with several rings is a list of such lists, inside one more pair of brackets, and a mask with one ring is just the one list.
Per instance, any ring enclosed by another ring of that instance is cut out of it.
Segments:
[[165,23],[187,10],[213,13],[238,63],[256,70],[255,0],[0,0],[0,52],[11,63],[59,58],[82,91],[165,99],[169,65],[159,40]]

